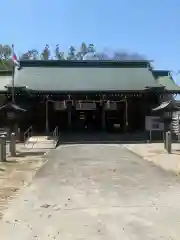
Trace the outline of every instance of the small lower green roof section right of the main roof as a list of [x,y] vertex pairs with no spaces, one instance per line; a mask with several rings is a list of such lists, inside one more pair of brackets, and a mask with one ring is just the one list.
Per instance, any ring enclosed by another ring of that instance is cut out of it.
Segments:
[[180,92],[180,86],[178,86],[171,74],[170,71],[164,71],[164,70],[154,70],[153,75],[156,78],[156,81],[158,84],[164,85],[165,89],[168,91],[174,91],[174,92]]

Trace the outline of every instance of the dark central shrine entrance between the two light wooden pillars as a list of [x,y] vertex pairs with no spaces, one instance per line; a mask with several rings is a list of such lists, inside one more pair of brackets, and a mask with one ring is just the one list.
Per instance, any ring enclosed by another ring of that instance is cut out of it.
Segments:
[[[126,132],[127,111],[126,102],[75,101],[53,103],[54,109],[49,110],[49,129],[56,126],[59,131],[108,131],[114,133]],[[51,108],[52,109],[52,108]]]

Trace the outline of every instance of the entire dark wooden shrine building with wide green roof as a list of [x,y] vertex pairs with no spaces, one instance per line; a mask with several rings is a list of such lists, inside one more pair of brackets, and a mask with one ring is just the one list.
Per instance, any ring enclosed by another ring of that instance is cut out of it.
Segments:
[[[1,105],[11,101],[27,111],[18,126],[36,133],[145,131],[145,118],[163,99],[180,92],[170,71],[150,61],[20,61],[12,73],[0,72]],[[0,115],[1,127],[6,117]]]

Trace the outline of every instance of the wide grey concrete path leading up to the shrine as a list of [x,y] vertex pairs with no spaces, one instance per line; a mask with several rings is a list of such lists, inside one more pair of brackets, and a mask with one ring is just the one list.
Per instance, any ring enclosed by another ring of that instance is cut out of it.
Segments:
[[64,145],[0,222],[2,240],[179,240],[180,180],[120,145]]

